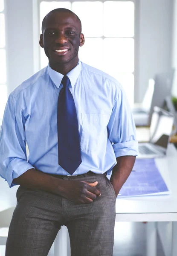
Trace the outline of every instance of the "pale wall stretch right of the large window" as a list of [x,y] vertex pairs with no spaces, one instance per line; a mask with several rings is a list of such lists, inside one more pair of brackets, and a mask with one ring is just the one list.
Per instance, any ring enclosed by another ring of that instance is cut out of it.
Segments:
[[148,79],[171,67],[173,0],[140,0],[139,93],[141,102]]

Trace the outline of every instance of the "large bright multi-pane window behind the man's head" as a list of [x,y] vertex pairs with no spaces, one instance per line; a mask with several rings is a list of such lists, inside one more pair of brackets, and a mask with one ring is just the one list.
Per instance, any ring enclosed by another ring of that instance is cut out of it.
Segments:
[[[79,58],[115,77],[130,105],[134,102],[134,2],[133,1],[41,1],[40,29],[44,16],[55,8],[67,8],[81,19],[84,46]],[[91,15],[90,15],[91,14]],[[41,48],[41,68],[48,64]]]

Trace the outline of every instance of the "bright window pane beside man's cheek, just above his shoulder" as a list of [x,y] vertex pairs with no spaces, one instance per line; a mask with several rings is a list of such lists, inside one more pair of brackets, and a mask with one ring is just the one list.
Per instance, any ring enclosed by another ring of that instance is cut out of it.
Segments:
[[79,47],[79,58],[84,63],[102,70],[103,39],[86,38],[85,44]]

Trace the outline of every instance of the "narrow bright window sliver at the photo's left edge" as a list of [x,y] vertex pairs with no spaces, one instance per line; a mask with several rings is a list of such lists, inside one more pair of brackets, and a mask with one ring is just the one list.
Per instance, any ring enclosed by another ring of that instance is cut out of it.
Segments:
[[[7,102],[4,1],[0,0],[0,120]],[[1,121],[0,121],[1,124]]]

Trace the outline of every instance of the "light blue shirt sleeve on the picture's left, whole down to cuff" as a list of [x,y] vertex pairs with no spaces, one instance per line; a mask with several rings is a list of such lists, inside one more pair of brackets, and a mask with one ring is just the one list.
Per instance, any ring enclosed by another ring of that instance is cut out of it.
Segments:
[[13,179],[34,168],[27,162],[25,119],[13,92],[6,104],[0,131],[0,176],[9,187],[16,185]]

